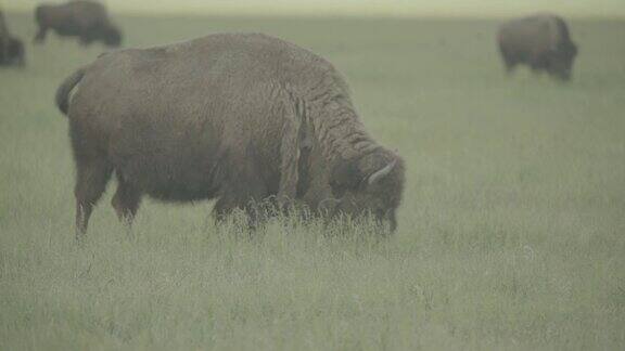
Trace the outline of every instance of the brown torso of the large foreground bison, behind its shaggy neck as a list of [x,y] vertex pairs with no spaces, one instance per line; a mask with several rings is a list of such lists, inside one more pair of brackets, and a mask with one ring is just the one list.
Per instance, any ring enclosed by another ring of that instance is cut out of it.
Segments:
[[155,197],[208,196],[220,168],[247,166],[275,191],[283,90],[315,84],[310,78],[328,69],[311,53],[262,35],[114,52],[87,70],[72,99],[73,140],[105,153]]

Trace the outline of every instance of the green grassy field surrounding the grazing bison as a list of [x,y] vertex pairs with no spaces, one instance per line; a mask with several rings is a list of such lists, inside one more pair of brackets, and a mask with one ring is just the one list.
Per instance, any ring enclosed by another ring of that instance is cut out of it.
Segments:
[[148,200],[128,235],[110,186],[77,246],[52,96],[102,48],[51,36],[0,69],[0,350],[625,348],[625,22],[571,23],[570,84],[505,77],[495,21],[118,22],[129,47],[252,30],[328,57],[407,161],[399,230],[248,239]]

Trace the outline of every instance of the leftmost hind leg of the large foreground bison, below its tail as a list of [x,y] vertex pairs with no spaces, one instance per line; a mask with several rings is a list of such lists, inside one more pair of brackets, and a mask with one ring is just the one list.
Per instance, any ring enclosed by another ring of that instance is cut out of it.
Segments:
[[113,167],[106,159],[77,159],[76,196],[76,238],[87,232],[93,206],[98,203],[111,179]]

